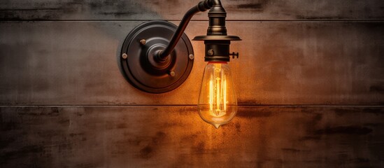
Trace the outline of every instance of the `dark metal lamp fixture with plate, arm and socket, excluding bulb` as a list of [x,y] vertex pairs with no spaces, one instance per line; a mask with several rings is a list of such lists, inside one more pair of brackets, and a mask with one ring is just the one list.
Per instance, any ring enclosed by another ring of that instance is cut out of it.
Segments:
[[229,62],[230,55],[239,57],[239,53],[229,52],[230,41],[241,39],[227,35],[227,13],[220,0],[200,1],[185,13],[178,27],[156,20],[138,25],[128,34],[120,62],[129,83],[150,93],[169,92],[181,85],[189,76],[194,60],[192,44],[184,30],[194,14],[206,10],[209,10],[207,34],[193,39],[204,41],[205,61]]

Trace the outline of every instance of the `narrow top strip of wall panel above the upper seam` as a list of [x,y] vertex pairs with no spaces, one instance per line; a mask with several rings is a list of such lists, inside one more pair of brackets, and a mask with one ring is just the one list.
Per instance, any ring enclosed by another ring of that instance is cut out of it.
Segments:
[[[180,20],[199,0],[5,0],[0,20]],[[222,0],[229,20],[383,20],[381,0]],[[207,20],[206,13],[194,20]]]

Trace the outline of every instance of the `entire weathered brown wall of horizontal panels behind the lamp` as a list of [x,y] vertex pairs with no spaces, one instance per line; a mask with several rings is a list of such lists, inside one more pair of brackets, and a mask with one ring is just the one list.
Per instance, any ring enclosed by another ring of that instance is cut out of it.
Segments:
[[384,167],[384,1],[222,0],[243,41],[239,112],[218,130],[194,106],[203,43],[165,94],[118,66],[131,29],[197,2],[0,1],[0,167]]

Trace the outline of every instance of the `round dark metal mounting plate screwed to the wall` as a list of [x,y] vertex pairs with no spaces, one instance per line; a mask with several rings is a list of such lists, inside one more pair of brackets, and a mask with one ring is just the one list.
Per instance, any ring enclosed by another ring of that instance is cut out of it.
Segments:
[[[186,34],[165,60],[155,53],[164,50],[177,26],[162,20],[144,22],[129,32],[122,44],[120,64],[129,83],[150,93],[176,89],[190,75],[193,66],[193,48]],[[192,57],[190,57],[192,55]]]

